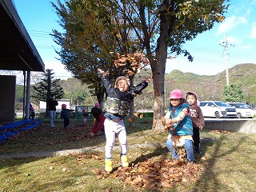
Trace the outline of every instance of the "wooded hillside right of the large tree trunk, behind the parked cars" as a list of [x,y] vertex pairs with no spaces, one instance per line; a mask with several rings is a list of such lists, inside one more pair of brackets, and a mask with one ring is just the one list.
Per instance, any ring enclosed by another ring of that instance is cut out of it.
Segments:
[[[256,103],[256,64],[238,64],[229,69],[230,84],[241,83],[246,94],[246,102]],[[194,90],[200,100],[222,100],[222,90],[226,86],[226,70],[215,75],[198,75],[172,70],[166,74],[166,92],[181,89]]]

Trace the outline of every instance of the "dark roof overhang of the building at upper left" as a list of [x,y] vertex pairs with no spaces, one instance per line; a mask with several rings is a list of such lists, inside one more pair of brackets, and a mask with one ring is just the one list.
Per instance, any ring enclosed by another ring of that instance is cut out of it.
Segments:
[[11,0],[0,0],[0,28],[0,70],[45,70]]

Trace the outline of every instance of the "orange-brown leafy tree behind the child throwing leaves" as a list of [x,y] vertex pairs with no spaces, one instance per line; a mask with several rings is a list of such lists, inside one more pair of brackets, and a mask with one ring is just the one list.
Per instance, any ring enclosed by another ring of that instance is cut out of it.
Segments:
[[[114,18],[111,10],[105,9],[96,1],[76,0],[62,4],[52,2],[65,33],[53,30],[54,41],[62,46],[57,51],[66,69],[88,85],[98,102],[103,101],[105,89],[98,78],[97,68],[109,70],[110,80],[132,71],[129,62],[126,65],[114,65],[114,54],[126,55],[134,52],[136,42],[130,37],[130,29],[126,21]],[[111,14],[111,18],[107,16]],[[111,19],[111,20],[110,20]],[[136,71],[133,71],[133,74]],[[133,76],[133,75],[130,75]],[[132,80],[132,78],[131,78]]]

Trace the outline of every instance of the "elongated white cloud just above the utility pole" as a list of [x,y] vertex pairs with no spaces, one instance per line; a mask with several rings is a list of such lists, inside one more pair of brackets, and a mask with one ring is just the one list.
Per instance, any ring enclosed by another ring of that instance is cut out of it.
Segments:
[[222,22],[218,26],[218,34],[225,34],[227,31],[230,31],[234,29],[236,26],[239,26],[240,24],[246,24],[247,19],[245,17],[236,17],[232,15],[230,18],[226,18],[224,22]]

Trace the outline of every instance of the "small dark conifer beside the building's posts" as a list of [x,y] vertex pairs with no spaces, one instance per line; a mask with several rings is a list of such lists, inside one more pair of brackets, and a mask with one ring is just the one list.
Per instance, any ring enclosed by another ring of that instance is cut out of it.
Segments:
[[[54,79],[54,72],[47,69],[41,80],[41,82],[38,82],[35,84],[35,86],[32,86],[33,90],[31,97],[37,102],[46,102],[46,109],[48,109],[48,101],[51,94],[54,94],[57,99],[63,97],[64,92],[62,87],[59,85],[59,81],[61,79]],[[46,115],[48,116],[47,110]]]

